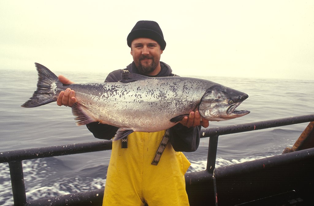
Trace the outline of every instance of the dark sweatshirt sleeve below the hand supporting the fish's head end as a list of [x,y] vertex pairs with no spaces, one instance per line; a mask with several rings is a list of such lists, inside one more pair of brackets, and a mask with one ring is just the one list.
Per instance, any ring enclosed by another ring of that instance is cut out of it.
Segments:
[[177,152],[194,152],[200,142],[202,126],[186,127],[179,124],[170,128],[170,142]]

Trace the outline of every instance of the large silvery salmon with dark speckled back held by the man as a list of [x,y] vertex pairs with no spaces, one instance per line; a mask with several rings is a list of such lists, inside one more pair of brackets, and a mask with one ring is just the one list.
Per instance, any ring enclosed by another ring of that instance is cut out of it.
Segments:
[[117,126],[120,129],[114,140],[133,131],[168,129],[196,109],[210,121],[229,120],[250,113],[235,110],[247,94],[203,79],[152,78],[122,73],[120,82],[64,85],[45,66],[38,63],[35,66],[37,90],[22,107],[55,102],[61,91],[71,88],[78,100],[72,107],[77,125],[99,121]]

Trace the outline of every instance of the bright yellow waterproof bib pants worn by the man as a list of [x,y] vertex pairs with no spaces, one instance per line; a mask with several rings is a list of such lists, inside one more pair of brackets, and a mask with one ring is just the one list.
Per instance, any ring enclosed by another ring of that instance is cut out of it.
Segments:
[[187,206],[185,178],[190,162],[168,142],[158,165],[152,165],[165,134],[133,132],[127,148],[112,142],[103,206]]

